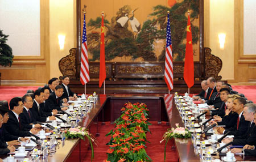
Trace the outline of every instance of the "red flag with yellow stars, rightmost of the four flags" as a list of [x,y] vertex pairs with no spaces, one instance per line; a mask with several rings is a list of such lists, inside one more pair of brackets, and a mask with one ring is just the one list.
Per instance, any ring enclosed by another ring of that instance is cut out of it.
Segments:
[[192,32],[191,32],[191,23],[190,23],[189,14],[188,14],[187,44],[186,44],[183,78],[188,88],[191,88],[194,85],[194,60],[193,60]]

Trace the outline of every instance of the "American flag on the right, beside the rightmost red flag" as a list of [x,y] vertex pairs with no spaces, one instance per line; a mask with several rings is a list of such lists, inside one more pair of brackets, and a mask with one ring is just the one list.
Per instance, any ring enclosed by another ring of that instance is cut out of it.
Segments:
[[172,66],[172,40],[169,13],[166,27],[166,66],[164,68],[164,80],[166,81],[166,84],[170,91],[174,89],[174,71]]

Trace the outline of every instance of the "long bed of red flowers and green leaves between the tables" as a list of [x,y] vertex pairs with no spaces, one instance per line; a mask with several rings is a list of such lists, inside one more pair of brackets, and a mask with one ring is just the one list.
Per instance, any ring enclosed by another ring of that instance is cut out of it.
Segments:
[[[115,128],[106,136],[111,135],[108,162],[152,161],[146,154],[146,133],[150,132],[147,121],[148,109],[143,103],[126,103],[121,109],[121,116],[115,120]],[[151,133],[151,132],[150,132]]]

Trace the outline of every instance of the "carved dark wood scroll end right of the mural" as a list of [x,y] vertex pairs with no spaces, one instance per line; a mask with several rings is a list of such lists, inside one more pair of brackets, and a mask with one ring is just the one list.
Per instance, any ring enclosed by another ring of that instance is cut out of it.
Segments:
[[222,68],[222,61],[219,57],[211,54],[212,50],[210,48],[204,48],[205,54],[205,79],[213,77],[217,80],[220,80],[222,76],[218,75]]

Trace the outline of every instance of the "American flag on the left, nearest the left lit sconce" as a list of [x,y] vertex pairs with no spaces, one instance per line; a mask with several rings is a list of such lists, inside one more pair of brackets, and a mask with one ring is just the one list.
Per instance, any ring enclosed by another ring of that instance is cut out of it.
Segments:
[[86,36],[86,25],[85,25],[85,14],[84,14],[84,29],[82,31],[82,50],[81,50],[81,70],[80,70],[80,82],[82,85],[89,82],[89,61],[87,53],[87,36]]

